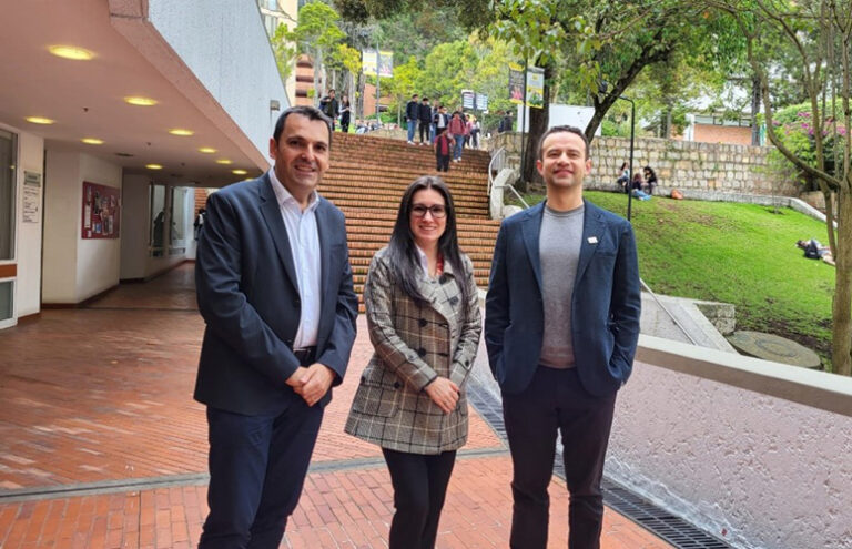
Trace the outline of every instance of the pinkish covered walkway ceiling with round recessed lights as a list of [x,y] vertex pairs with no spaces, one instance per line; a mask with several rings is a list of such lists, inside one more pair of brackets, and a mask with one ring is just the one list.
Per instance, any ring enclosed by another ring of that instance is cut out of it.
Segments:
[[[265,151],[231,122],[145,20],[145,9],[144,0],[4,1],[0,122],[44,138],[48,150],[84,152],[166,183],[221,186],[246,176],[232,170],[265,170]],[[52,45],[84,48],[93,58],[62,59],[49,51]],[[158,103],[125,102],[138,95]],[[194,133],[176,136],[169,133],[173,129]],[[84,138],[103,144],[85,144]],[[217,164],[222,159],[232,163]],[[146,164],[163,169],[152,172]]]

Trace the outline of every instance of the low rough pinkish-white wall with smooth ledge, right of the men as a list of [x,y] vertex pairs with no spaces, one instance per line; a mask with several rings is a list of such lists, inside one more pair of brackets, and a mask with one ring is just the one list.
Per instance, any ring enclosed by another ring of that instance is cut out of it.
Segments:
[[661,367],[651,339],[619,393],[607,475],[733,547],[852,548],[852,379],[703,348]]

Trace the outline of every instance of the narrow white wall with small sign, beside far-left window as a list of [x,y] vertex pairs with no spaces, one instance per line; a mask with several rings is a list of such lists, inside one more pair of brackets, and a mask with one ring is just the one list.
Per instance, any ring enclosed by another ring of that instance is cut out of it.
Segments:
[[41,225],[43,202],[39,210],[38,223],[23,222],[24,171],[42,175],[41,196],[44,197],[44,140],[31,133],[13,130],[18,134],[20,157],[18,159],[18,213],[16,215],[16,238],[18,241],[18,279],[16,281],[17,316],[27,316],[41,311]]

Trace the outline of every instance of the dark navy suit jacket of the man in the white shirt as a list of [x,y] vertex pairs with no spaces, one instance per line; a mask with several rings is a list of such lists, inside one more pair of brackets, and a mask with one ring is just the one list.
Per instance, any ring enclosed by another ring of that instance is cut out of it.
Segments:
[[[290,241],[272,182],[236,183],[207,199],[195,284],[206,322],[195,399],[245,415],[280,409],[301,398],[285,384],[298,367],[293,339],[300,296]],[[338,385],[355,340],[357,297],[352,286],[343,213],[320,197],[322,312],[316,362]],[[331,390],[321,401],[327,404]]]

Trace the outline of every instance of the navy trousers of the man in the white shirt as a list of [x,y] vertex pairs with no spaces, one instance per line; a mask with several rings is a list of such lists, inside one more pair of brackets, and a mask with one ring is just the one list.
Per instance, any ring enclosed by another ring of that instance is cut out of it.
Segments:
[[314,450],[322,406],[294,394],[283,409],[243,416],[207,408],[210,515],[200,549],[274,549],[284,537]]

